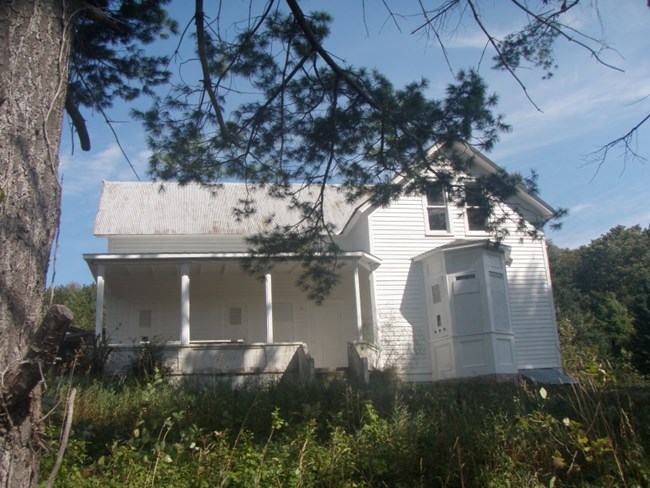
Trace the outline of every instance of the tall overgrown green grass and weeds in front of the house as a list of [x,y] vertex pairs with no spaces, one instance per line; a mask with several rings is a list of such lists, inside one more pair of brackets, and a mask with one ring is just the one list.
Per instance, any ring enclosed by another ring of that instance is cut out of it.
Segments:
[[[591,385],[77,382],[57,486],[647,486],[650,394]],[[50,388],[52,404],[70,384]],[[52,466],[61,425],[46,432]]]

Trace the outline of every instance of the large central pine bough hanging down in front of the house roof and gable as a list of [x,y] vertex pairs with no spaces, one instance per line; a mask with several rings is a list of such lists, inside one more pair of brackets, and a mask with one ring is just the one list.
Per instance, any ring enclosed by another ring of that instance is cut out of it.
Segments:
[[[446,3],[446,14],[463,10],[464,2]],[[420,6],[427,29],[446,29]],[[518,2],[513,6],[520,8]],[[323,215],[326,185],[339,183],[348,199],[378,205],[437,185],[462,206],[472,158],[467,151],[459,154],[454,143],[489,150],[508,130],[493,112],[496,96],[473,70],[460,71],[442,96],[431,98],[426,80],[396,87],[377,71],[335,59],[325,47],[332,22],[326,12],[303,12],[295,0],[269,0],[232,26],[208,12],[197,0],[187,26],[196,33],[199,79],[184,77],[150,110],[136,113],[148,132],[151,173],[215,186],[236,179],[284,199],[301,218],[254,236],[247,265],[259,273],[278,253],[292,253],[303,264],[298,283],[316,300],[337,282],[334,229]],[[474,17],[482,25],[478,12]],[[543,52],[535,42],[529,45],[537,59],[552,57],[552,39]],[[512,73],[521,65],[514,66],[520,45],[495,45],[499,53],[510,53],[506,68]],[[533,180],[505,172],[478,183],[475,198],[493,215],[519,188],[534,190]],[[306,197],[308,192],[316,197]],[[538,235],[542,222],[529,225],[515,212],[500,210],[507,215],[492,219],[496,240],[507,235],[510,220]],[[254,212],[255,202],[245,200],[236,217]]]

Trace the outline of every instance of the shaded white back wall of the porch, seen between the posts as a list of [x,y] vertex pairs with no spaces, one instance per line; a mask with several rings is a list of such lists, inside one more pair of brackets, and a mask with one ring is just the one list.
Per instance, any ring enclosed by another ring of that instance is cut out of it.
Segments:
[[[272,271],[274,312],[290,310],[290,320],[274,314],[275,342],[304,342],[317,368],[347,366],[347,349],[356,339],[352,269],[342,268],[341,282],[316,305],[295,285],[297,272]],[[367,276],[367,275],[366,275]],[[174,264],[135,264],[106,276],[106,325],[109,341],[180,340],[180,274]],[[368,293],[368,285],[362,290]],[[241,325],[228,321],[231,307],[241,308]],[[151,324],[141,327],[140,311]],[[365,310],[368,313],[368,310]],[[245,273],[236,260],[190,265],[190,340],[266,341],[264,283]]]

